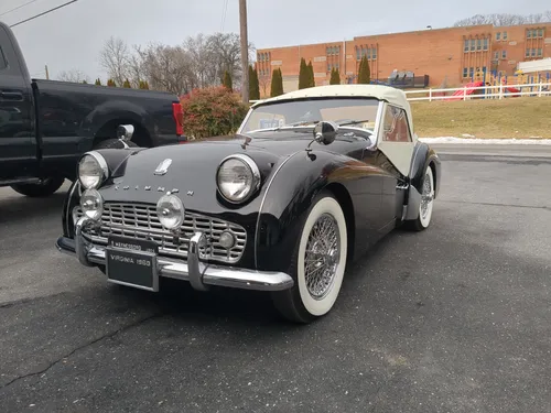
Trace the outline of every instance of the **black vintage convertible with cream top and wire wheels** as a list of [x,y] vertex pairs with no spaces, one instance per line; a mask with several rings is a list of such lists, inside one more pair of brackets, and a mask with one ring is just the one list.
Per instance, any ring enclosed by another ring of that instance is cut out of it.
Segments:
[[61,251],[112,283],[270,292],[289,319],[331,311],[346,265],[397,226],[424,230],[441,162],[403,91],[322,86],[255,104],[233,139],[86,153]]

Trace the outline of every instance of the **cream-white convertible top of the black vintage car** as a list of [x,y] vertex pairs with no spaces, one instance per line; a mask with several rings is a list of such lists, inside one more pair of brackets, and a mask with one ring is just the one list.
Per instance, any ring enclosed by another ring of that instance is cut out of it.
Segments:
[[403,90],[397,89],[390,86],[382,85],[327,85],[327,86],[316,86],[306,89],[299,89],[277,96],[274,98],[268,98],[264,100],[259,100],[255,102],[251,108],[257,106],[277,102],[280,100],[293,100],[293,99],[304,99],[304,98],[324,98],[324,97],[366,97],[376,98],[378,100],[388,101],[391,105],[398,106],[406,110],[408,120],[410,123],[410,129],[413,131],[413,120],[411,116],[411,107],[406,97]]

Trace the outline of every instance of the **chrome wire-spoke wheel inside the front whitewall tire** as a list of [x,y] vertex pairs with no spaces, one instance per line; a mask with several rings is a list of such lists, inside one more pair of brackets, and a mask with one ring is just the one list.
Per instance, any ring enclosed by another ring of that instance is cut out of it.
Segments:
[[341,237],[335,218],[322,215],[310,231],[304,257],[306,287],[314,300],[331,291],[341,261]]

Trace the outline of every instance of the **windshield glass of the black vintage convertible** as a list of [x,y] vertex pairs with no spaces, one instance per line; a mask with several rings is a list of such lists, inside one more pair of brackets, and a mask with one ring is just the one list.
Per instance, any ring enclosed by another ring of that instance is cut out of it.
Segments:
[[372,132],[378,107],[377,99],[366,98],[325,98],[261,105],[252,109],[245,120],[241,133],[313,126],[322,120]]

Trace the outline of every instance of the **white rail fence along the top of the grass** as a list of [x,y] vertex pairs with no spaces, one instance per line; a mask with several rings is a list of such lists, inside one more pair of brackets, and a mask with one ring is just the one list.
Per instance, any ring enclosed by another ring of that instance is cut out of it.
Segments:
[[[482,93],[477,93],[482,90]],[[425,96],[414,97],[424,94]],[[455,94],[455,95],[454,95]],[[498,85],[480,87],[458,87],[449,89],[406,90],[409,101],[415,100],[469,100],[469,99],[504,99],[517,96],[551,96],[551,83],[528,85]],[[261,100],[251,100],[255,104]]]

